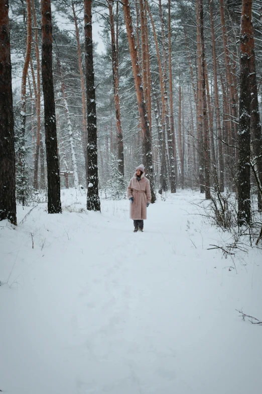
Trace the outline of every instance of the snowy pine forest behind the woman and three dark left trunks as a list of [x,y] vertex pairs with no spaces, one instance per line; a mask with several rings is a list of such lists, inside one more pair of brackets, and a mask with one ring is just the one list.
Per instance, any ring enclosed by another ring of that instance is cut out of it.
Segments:
[[[93,99],[84,67],[87,3],[104,47],[92,48]],[[48,183],[40,3],[12,1],[9,17],[16,197],[25,205]],[[61,186],[89,193],[97,181],[105,197],[119,199],[143,162],[152,202],[168,189],[200,188],[218,225],[252,227],[262,207],[261,23],[259,0],[53,1]],[[88,103],[96,107],[94,162]]]

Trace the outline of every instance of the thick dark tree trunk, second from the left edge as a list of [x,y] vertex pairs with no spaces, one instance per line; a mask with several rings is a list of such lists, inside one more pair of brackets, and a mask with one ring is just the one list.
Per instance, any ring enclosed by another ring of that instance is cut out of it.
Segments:
[[52,70],[51,0],[41,0],[42,82],[44,94],[48,213],[61,212],[56,113]]

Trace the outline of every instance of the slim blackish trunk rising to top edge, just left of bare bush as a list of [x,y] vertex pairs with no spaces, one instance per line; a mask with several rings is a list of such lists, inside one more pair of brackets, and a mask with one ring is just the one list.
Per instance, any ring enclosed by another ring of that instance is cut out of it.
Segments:
[[200,41],[201,41],[201,69],[202,69],[202,114],[203,114],[203,134],[204,134],[204,171],[205,171],[205,198],[211,198],[210,193],[210,142],[208,133],[208,114],[206,100],[206,77],[205,77],[205,42],[204,42],[204,19],[203,19],[203,0],[198,0],[199,21],[200,21]]

